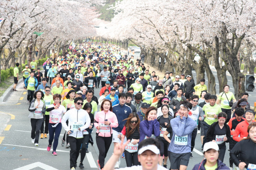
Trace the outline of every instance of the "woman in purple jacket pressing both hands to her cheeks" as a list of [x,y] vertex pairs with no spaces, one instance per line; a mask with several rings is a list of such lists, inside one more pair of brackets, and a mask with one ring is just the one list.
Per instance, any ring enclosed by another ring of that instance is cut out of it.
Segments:
[[160,135],[160,125],[157,121],[157,109],[151,106],[147,109],[145,120],[140,123],[140,142],[147,138],[156,138]]

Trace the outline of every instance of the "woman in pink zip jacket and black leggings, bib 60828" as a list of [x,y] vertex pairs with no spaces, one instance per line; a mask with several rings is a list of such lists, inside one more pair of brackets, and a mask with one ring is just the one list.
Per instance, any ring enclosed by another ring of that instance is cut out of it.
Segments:
[[100,107],[101,111],[97,112],[94,118],[94,126],[96,131],[96,143],[99,149],[98,166],[100,169],[104,167],[105,157],[112,142],[112,127],[118,126],[115,113],[113,113],[112,103],[108,99],[104,99]]

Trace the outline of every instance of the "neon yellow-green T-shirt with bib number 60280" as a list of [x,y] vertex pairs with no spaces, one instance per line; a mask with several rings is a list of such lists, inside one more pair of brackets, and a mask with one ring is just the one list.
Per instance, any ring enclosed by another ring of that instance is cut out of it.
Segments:
[[211,106],[210,103],[205,104],[203,106],[203,111],[206,117],[204,118],[204,121],[208,124],[211,125],[214,122],[218,121],[218,118],[214,118],[214,114],[219,114],[221,111],[221,106],[215,104],[214,106]]

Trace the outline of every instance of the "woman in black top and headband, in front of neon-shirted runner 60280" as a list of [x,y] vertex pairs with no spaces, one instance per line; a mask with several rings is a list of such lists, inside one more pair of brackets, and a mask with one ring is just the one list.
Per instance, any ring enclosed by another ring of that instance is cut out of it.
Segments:
[[213,141],[218,144],[220,149],[219,159],[221,162],[224,161],[224,156],[226,152],[226,143],[230,140],[230,128],[225,121],[227,119],[227,114],[225,112],[220,112],[218,114],[218,121],[211,124],[209,130],[206,134],[207,142]]

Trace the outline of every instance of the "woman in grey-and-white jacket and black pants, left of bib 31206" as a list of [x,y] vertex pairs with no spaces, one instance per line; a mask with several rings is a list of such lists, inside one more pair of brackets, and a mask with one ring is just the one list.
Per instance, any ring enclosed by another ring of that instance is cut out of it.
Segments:
[[46,109],[45,109],[45,101],[43,101],[44,95],[42,91],[36,91],[33,97],[34,99],[31,101],[28,108],[28,111],[29,111],[28,118],[30,118],[31,127],[32,127],[32,130],[31,130],[32,143],[34,143],[35,146],[38,146],[40,128],[43,122],[43,114],[45,114]]

